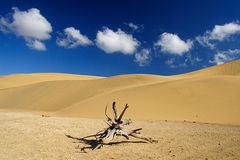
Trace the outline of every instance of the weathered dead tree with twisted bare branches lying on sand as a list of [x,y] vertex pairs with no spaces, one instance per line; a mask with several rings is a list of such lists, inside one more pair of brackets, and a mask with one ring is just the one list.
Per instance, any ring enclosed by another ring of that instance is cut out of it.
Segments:
[[[123,115],[126,112],[128,107],[129,107],[128,104],[126,104],[125,108],[119,115],[117,112],[117,109],[116,109],[116,102],[113,102],[112,110],[113,110],[114,118],[112,119],[107,115],[107,109],[108,109],[108,105],[107,105],[105,108],[105,116],[107,117],[107,120],[105,120],[105,122],[107,123],[108,128],[106,128],[102,131],[99,131],[98,133],[96,133],[94,135],[86,136],[81,139],[86,140],[89,137],[95,137],[98,144],[94,148],[92,148],[93,150],[101,148],[103,145],[109,144],[110,142],[112,142],[114,140],[114,138],[116,136],[123,136],[127,140],[129,139],[129,137],[134,137],[134,138],[138,138],[138,139],[150,142],[150,143],[157,142],[156,140],[153,140],[150,137],[143,136],[140,132],[142,130],[142,128],[138,128],[138,129],[134,129],[134,130],[126,130],[124,128],[126,125],[129,125],[132,123],[131,119],[128,119],[128,120],[122,119]],[[82,151],[85,152],[86,148],[89,148],[89,147],[83,147]]]

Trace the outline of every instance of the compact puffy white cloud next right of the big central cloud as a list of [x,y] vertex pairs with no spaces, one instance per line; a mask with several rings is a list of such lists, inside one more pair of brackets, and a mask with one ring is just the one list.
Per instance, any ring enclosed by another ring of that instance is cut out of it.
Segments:
[[176,34],[164,32],[154,45],[161,47],[161,52],[182,56],[192,48],[193,42],[191,40],[185,42]]

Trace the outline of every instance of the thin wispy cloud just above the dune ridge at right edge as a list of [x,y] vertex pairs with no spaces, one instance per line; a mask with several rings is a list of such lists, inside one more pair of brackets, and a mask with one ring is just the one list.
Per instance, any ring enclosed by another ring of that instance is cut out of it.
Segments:
[[213,60],[210,60],[210,63],[214,64],[223,64],[232,60],[240,58],[240,49],[229,49],[227,51],[219,51],[214,55]]

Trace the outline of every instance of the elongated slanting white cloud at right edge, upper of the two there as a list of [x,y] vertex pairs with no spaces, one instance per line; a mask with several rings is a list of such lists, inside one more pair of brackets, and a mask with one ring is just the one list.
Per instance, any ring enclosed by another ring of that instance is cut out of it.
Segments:
[[206,31],[203,36],[197,36],[196,40],[203,46],[211,49],[215,48],[215,42],[224,41],[229,37],[240,33],[240,24],[238,22],[215,25],[213,30]]

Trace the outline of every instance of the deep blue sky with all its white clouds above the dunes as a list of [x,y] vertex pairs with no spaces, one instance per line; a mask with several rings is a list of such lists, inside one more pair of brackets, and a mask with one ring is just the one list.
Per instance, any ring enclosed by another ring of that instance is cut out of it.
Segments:
[[0,75],[173,75],[240,58],[239,1],[2,1]]

